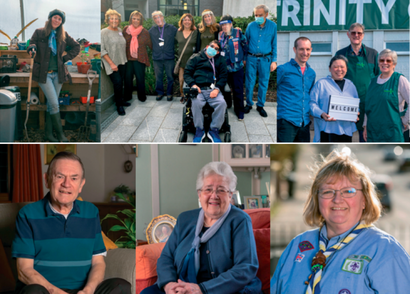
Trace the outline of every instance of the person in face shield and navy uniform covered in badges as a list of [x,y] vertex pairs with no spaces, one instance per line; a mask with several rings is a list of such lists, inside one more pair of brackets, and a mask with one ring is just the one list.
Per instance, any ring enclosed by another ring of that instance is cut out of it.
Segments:
[[[244,57],[248,54],[246,36],[238,29],[232,27],[233,18],[230,15],[221,17],[219,26],[222,32],[218,35],[221,43],[220,54],[225,57],[228,67],[228,84],[233,91],[233,110],[238,121],[244,120]],[[227,107],[231,107],[231,92],[222,90]]]

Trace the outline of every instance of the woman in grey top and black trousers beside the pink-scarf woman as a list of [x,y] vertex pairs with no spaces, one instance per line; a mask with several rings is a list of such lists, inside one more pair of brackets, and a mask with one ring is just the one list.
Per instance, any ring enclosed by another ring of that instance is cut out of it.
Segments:
[[125,76],[126,41],[119,25],[121,15],[112,9],[106,12],[108,27],[101,30],[101,57],[107,75],[114,86],[115,105],[119,115],[125,115],[124,106],[131,105],[124,101],[123,84]]

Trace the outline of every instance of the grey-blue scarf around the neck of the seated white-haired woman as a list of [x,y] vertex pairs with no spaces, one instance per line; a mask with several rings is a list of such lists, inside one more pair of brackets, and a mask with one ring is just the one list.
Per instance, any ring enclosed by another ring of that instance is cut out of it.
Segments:
[[208,242],[208,240],[214,236],[214,234],[219,230],[221,225],[224,223],[230,211],[231,211],[231,205],[228,206],[228,209],[214,223],[214,225],[211,225],[210,228],[206,230],[206,232],[202,235],[202,237],[199,237],[199,234],[201,233],[202,227],[204,225],[205,212],[203,209],[199,211],[198,220],[196,222],[194,241],[192,242],[191,250],[188,252],[188,254],[186,255],[184,259],[184,263],[182,264],[181,272],[179,274],[179,278],[182,281],[188,282],[188,283],[195,283],[195,284],[197,283],[196,275],[198,274],[198,271],[199,271],[200,243]]

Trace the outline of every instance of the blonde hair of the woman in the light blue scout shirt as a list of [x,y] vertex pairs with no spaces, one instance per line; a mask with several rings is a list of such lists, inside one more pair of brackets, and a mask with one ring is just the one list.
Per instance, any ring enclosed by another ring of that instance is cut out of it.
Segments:
[[346,176],[351,182],[360,181],[365,199],[365,208],[360,220],[367,225],[378,220],[382,207],[374,183],[370,179],[370,170],[357,159],[333,150],[326,158],[321,156],[321,162],[317,162],[311,170],[314,173],[313,183],[303,209],[303,221],[306,225],[324,225],[325,220],[319,210],[318,194],[320,187],[333,176],[336,176],[334,181],[341,176]]

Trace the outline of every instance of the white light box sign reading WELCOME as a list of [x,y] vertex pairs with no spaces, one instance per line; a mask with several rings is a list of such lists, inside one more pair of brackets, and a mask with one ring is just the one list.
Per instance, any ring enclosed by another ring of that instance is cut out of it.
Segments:
[[327,114],[337,121],[357,121],[360,99],[330,95]]

